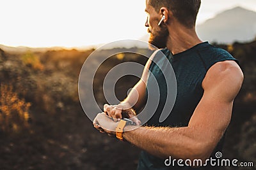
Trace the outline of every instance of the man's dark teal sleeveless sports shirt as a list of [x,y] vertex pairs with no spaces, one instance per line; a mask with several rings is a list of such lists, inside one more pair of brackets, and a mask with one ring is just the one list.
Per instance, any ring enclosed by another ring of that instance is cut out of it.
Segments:
[[[159,84],[160,99],[157,110],[146,125],[149,126],[168,126],[168,127],[186,127],[193,112],[204,94],[202,88],[202,81],[209,68],[224,60],[235,60],[230,53],[210,45],[208,42],[200,43],[188,50],[172,55],[172,53],[164,48],[161,50],[172,64],[177,80],[177,96],[172,112],[164,120],[159,123],[159,117],[163,110],[166,101],[166,80],[159,69],[159,65],[163,66],[163,58],[159,57],[150,64],[149,70],[152,72],[148,76],[147,86],[150,86],[152,76],[154,76]],[[157,63],[157,64],[156,64]],[[158,66],[157,66],[158,65]],[[223,145],[223,138],[216,146],[212,156],[217,151],[221,151]],[[172,155],[170,155],[172,156]],[[147,152],[141,152],[138,169],[190,169],[191,167],[166,167],[164,165],[165,159],[159,159]],[[201,167],[200,169],[209,169],[209,167]],[[216,169],[216,167],[214,167]]]

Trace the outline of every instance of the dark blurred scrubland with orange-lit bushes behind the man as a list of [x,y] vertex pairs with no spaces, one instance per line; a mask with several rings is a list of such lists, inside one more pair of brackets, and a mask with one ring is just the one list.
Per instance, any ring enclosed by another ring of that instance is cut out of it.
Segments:
[[[216,46],[239,59],[244,72],[244,84],[234,103],[223,155],[254,161],[256,41]],[[0,49],[0,169],[136,168],[140,150],[100,134],[79,103],[79,72],[93,50],[8,53]],[[103,53],[108,55],[108,52]],[[126,61],[145,64],[147,58],[122,53],[99,67],[93,89],[100,107],[106,103],[102,95],[104,76]],[[118,99],[124,99],[136,81],[138,78],[134,76],[119,80],[115,88]]]

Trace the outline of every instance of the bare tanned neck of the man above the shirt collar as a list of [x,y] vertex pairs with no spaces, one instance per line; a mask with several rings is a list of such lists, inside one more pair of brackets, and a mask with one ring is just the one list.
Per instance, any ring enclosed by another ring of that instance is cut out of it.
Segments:
[[[174,29],[173,29],[174,28]],[[170,34],[166,47],[173,54],[184,52],[193,46],[202,43],[195,32],[195,28],[188,29],[183,25],[173,25],[168,29]]]

